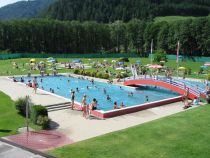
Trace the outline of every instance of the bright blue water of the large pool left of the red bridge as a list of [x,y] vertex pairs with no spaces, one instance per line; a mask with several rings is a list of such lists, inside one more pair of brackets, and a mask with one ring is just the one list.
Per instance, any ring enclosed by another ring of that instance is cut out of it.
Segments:
[[[28,77],[24,78],[25,83],[32,79],[33,78]],[[20,78],[18,80],[20,80]],[[121,102],[123,102],[125,106],[132,106],[145,103],[146,96],[149,97],[149,102],[179,96],[178,93],[163,88],[149,86],[140,88],[121,87],[96,81],[92,84],[89,80],[67,76],[42,77],[42,82],[40,82],[41,77],[37,77],[37,81],[39,88],[43,87],[46,91],[50,91],[50,88],[52,88],[54,89],[55,94],[69,99],[70,90],[73,89],[75,91],[75,100],[77,102],[81,102],[84,94],[87,95],[88,103],[91,103],[93,98],[96,98],[98,101],[97,108],[104,111],[112,110],[115,101],[118,103],[118,106]],[[87,89],[87,86],[89,89]],[[77,87],[79,92],[76,92]],[[104,94],[104,89],[106,89],[106,94]],[[133,92],[133,96],[128,96],[128,93],[130,92]],[[111,101],[107,100],[107,95],[111,97]]]

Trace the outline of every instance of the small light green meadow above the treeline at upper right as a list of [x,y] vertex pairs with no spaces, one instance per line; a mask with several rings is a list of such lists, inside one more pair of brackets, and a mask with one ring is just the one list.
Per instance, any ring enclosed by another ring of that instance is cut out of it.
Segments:
[[188,19],[195,19],[198,17],[194,17],[194,16],[161,16],[161,17],[156,17],[154,19],[155,22],[162,22],[162,21],[166,21],[166,22],[174,22],[174,21],[178,21],[178,20],[188,20]]

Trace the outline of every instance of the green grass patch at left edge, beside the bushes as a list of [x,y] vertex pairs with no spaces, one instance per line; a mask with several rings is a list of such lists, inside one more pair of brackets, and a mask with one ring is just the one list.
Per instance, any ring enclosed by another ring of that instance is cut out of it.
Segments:
[[[0,137],[16,134],[18,128],[25,125],[25,118],[18,114],[14,101],[0,91]],[[40,129],[38,126],[31,126]]]

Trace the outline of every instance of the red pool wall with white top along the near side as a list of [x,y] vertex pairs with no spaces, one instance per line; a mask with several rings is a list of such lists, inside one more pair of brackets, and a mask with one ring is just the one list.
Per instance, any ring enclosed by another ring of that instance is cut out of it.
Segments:
[[100,119],[105,119],[105,118],[111,118],[111,117],[129,114],[129,113],[134,113],[141,110],[146,110],[149,108],[154,108],[154,107],[158,107],[158,106],[162,106],[166,104],[171,104],[171,103],[179,102],[181,100],[182,100],[182,96],[178,96],[178,97],[163,99],[159,101],[149,102],[145,104],[125,107],[122,109],[115,109],[115,110],[110,110],[110,111],[94,110],[94,111],[91,111],[91,115]]

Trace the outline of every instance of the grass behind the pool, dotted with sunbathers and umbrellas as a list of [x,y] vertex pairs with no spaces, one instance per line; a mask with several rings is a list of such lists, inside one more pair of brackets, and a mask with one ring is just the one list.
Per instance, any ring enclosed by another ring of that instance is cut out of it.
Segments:
[[[24,59],[11,59],[11,60],[0,60],[0,76],[13,76],[13,75],[26,75],[28,73],[28,67],[26,66],[26,63],[29,63],[30,59],[24,58]],[[39,61],[45,61],[46,59],[36,59],[37,62]],[[58,62],[68,62],[74,60],[73,58],[59,58],[57,59]],[[82,59],[83,63],[89,64],[90,62],[93,61],[99,61],[99,62],[104,62],[104,60],[107,60],[108,62],[111,63],[113,59],[104,59],[104,58],[96,58],[92,59],[91,61],[88,59]],[[117,60],[117,59],[116,59]],[[126,63],[126,65],[130,65],[132,63],[135,63],[136,61],[140,60],[142,65],[149,64],[150,60],[148,58],[129,58],[130,62]],[[19,69],[15,69],[14,66],[12,65],[13,62],[16,62],[18,64]],[[180,62],[179,66],[184,66],[186,68],[191,68],[192,69],[192,75],[188,77],[193,77],[193,78],[205,78],[205,75],[197,76],[197,72],[200,69],[200,66],[202,66],[204,63],[203,62],[192,62],[192,61],[187,61],[187,62]],[[174,60],[169,60],[166,63],[166,66],[171,67],[176,69],[176,61]],[[105,69],[99,69],[99,71],[103,71]],[[115,70],[109,68],[110,71],[116,72]],[[96,71],[96,69],[89,69],[88,71]],[[52,73],[51,71],[48,71],[49,73]],[[72,69],[62,69],[59,70],[60,73],[68,73],[68,72],[73,72]],[[33,74],[38,74],[38,71],[32,71]],[[174,73],[176,75],[176,73]]]

